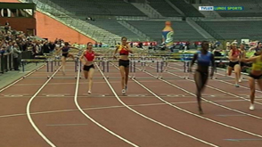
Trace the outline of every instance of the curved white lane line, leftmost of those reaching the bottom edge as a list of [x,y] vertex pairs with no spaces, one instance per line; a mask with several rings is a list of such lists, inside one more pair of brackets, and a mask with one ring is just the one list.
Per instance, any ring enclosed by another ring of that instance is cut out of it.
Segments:
[[[59,67],[59,69],[61,69],[61,66]],[[49,145],[51,145],[52,147],[55,147],[55,145],[39,130],[39,128],[36,126],[35,122],[34,122],[33,119],[31,118],[31,115],[30,115],[30,105],[31,105],[31,102],[33,102],[33,100],[36,98],[37,94],[39,94],[39,93],[41,92],[41,90],[47,85],[47,83],[53,78],[53,76],[54,76],[58,71],[59,71],[59,70],[56,70],[55,72],[53,72],[53,75],[46,80],[46,82],[43,84],[43,86],[41,86],[41,87],[38,89],[37,93],[34,94],[34,95],[30,98],[30,100],[29,100],[29,102],[28,102],[28,104],[27,104],[27,116],[28,116],[28,118],[29,118],[30,124],[32,125],[32,127],[35,128],[35,130],[37,131],[38,135],[40,135],[40,136],[45,140],[45,142],[48,143]]]

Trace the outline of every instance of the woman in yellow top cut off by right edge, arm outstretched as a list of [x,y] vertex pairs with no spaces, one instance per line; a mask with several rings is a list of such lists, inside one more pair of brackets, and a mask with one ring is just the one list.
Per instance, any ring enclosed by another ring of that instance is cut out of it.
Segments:
[[249,59],[242,58],[243,62],[253,62],[252,68],[250,71],[250,78],[249,78],[249,84],[250,84],[250,110],[255,110],[255,80],[258,82],[258,86],[260,90],[262,90],[262,52],[258,56],[250,57]]

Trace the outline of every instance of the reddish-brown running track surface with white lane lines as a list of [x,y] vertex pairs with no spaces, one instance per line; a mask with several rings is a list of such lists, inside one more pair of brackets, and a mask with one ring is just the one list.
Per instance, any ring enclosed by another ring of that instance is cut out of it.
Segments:
[[120,74],[112,64],[108,79],[96,67],[93,94],[87,94],[86,79],[74,78],[70,64],[71,78],[58,78],[61,71],[55,78],[34,78],[46,76],[37,70],[0,94],[0,146],[262,146],[261,92],[256,110],[249,110],[247,81],[236,88],[219,71],[202,95],[200,116],[192,75],[183,79],[182,66],[170,66],[163,79],[152,78],[155,65],[136,69],[127,95],[120,93]]

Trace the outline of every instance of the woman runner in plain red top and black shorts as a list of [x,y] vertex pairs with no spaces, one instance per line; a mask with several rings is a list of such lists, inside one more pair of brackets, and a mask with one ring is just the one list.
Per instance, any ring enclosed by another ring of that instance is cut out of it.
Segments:
[[93,85],[93,75],[94,75],[94,57],[95,54],[93,51],[93,44],[91,42],[87,43],[86,51],[82,53],[80,61],[84,64],[84,77],[88,78],[88,94],[91,94],[91,89]]

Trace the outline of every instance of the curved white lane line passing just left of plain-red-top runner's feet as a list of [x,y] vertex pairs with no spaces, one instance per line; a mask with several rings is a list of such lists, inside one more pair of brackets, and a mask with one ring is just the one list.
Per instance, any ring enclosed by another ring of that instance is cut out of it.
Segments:
[[[79,64],[79,63],[78,63]],[[80,65],[78,65],[78,67],[80,67]],[[98,66],[97,66],[98,67]],[[99,68],[99,67],[98,67]],[[75,97],[74,97],[74,101],[75,101],[75,104],[76,106],[78,107],[78,110],[86,116],[86,118],[89,118],[92,122],[94,122],[94,124],[96,124],[98,127],[102,127],[102,129],[104,129],[105,131],[107,131],[108,133],[110,133],[111,135],[114,135],[116,137],[118,137],[120,140],[132,145],[132,146],[135,146],[135,147],[138,147],[138,145],[136,145],[135,143],[132,143],[130,141],[128,141],[127,139],[125,139],[124,137],[120,136],[120,135],[117,135],[116,133],[112,132],[110,129],[108,129],[107,127],[104,127],[102,126],[101,124],[99,124],[97,121],[94,120],[94,118],[91,118],[89,115],[86,114],[86,112],[84,110],[82,110],[82,108],[79,106],[78,104],[78,83],[79,83],[79,77],[80,77],[80,68],[78,68],[78,78],[77,78],[77,84],[76,84],[76,91],[75,91]]]

